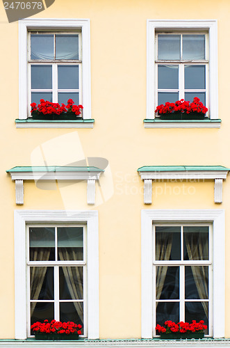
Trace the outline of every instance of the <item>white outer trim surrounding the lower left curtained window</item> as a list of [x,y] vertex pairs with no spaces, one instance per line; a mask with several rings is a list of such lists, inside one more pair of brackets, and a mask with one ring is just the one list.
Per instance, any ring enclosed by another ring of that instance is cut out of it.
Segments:
[[87,223],[88,338],[99,338],[98,212],[88,210],[15,210],[15,338],[27,338],[26,223]]

